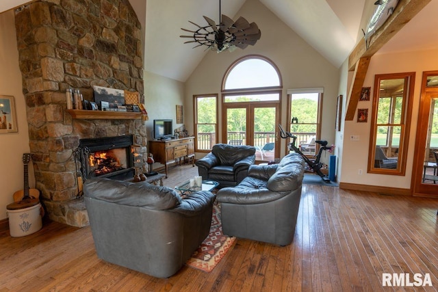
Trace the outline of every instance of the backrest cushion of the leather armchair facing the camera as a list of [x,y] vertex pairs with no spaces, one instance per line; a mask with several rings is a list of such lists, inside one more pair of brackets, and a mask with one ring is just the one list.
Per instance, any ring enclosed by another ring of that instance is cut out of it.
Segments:
[[255,155],[255,147],[253,146],[233,146],[229,144],[216,144],[211,149],[211,152],[218,157],[221,165],[234,165],[248,156]]

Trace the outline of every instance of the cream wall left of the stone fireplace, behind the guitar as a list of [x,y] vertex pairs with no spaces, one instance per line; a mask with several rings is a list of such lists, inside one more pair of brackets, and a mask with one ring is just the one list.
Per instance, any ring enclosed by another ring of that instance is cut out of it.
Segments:
[[[18,66],[13,10],[0,14],[0,95],[14,96],[18,133],[0,133],[0,220],[7,217],[6,206],[15,191],[23,189],[23,153],[29,152],[26,105]],[[29,186],[35,187],[29,165]]]

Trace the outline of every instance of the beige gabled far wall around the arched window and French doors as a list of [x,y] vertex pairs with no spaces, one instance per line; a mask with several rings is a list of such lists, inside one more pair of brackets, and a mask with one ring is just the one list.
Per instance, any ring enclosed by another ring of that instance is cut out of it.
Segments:
[[[287,89],[324,88],[322,111],[322,138],[335,141],[335,107],[339,83],[339,70],[327,62],[292,29],[279,20],[259,1],[246,1],[236,17],[243,16],[261,27],[261,39],[254,47],[236,49],[232,53],[209,52],[185,83],[185,125],[194,133],[193,95],[220,93],[222,78],[229,66],[244,55],[257,54],[268,57],[279,67],[283,79],[281,124],[287,121]],[[196,48],[201,51],[203,48]],[[219,113],[221,117],[221,112]],[[219,133],[222,127],[218,129]],[[281,153],[286,145],[281,141]],[[199,158],[201,155],[196,155]],[[328,156],[326,159],[328,159]]]

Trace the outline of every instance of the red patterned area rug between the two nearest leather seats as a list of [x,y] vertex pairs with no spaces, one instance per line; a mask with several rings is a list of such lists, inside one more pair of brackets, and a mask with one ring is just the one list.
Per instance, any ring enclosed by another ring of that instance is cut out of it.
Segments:
[[227,254],[233,246],[234,241],[235,237],[228,237],[222,233],[220,207],[214,205],[210,233],[185,264],[195,269],[209,272],[214,269],[224,255]]

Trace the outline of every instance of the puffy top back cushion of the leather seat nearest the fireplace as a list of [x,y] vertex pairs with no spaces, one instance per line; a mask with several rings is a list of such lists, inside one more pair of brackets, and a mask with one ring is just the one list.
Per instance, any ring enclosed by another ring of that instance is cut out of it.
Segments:
[[90,198],[153,210],[172,209],[181,204],[181,196],[170,187],[149,183],[130,183],[110,178],[92,178],[83,185]]

